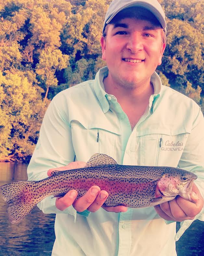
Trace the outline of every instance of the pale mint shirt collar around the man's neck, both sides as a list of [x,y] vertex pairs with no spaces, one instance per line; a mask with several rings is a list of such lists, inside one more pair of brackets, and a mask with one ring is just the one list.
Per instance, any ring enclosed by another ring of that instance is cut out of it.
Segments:
[[[107,93],[105,92],[103,80],[105,77],[108,76],[108,67],[104,67],[99,69],[99,71],[96,73],[95,81],[94,81],[94,90],[96,93],[96,97],[98,98],[98,101],[101,104],[102,110],[104,113],[107,113],[109,110],[109,102],[107,99]],[[154,94],[150,96],[149,98],[149,105],[152,106],[152,111],[154,112],[154,109],[156,107],[156,102],[158,101],[161,93],[162,83],[159,75],[154,72],[150,78],[150,81],[153,84],[154,87]]]

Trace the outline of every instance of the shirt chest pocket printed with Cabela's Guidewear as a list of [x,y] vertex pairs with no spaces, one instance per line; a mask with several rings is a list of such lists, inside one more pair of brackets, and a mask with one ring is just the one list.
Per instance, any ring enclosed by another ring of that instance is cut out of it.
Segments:
[[189,133],[163,132],[136,137],[138,165],[177,167]]

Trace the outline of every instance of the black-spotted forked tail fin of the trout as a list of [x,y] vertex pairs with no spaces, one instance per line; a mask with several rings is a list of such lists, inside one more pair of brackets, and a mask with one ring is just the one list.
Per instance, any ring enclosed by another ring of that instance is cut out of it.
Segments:
[[32,197],[32,185],[36,181],[17,181],[0,187],[0,193],[8,206],[8,218],[11,223],[25,218],[38,203]]

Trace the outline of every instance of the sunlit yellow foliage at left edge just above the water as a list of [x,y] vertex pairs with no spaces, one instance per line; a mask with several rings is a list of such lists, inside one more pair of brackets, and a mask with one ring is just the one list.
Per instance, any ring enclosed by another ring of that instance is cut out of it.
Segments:
[[42,102],[40,88],[25,74],[19,70],[0,73],[0,160],[23,160],[32,155],[37,142],[47,104]]

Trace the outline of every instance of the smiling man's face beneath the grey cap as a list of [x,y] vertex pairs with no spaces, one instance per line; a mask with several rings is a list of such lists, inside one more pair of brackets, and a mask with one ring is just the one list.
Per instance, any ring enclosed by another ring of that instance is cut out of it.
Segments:
[[110,81],[129,88],[148,82],[161,64],[165,49],[161,35],[162,28],[150,20],[125,18],[109,24],[101,47]]

